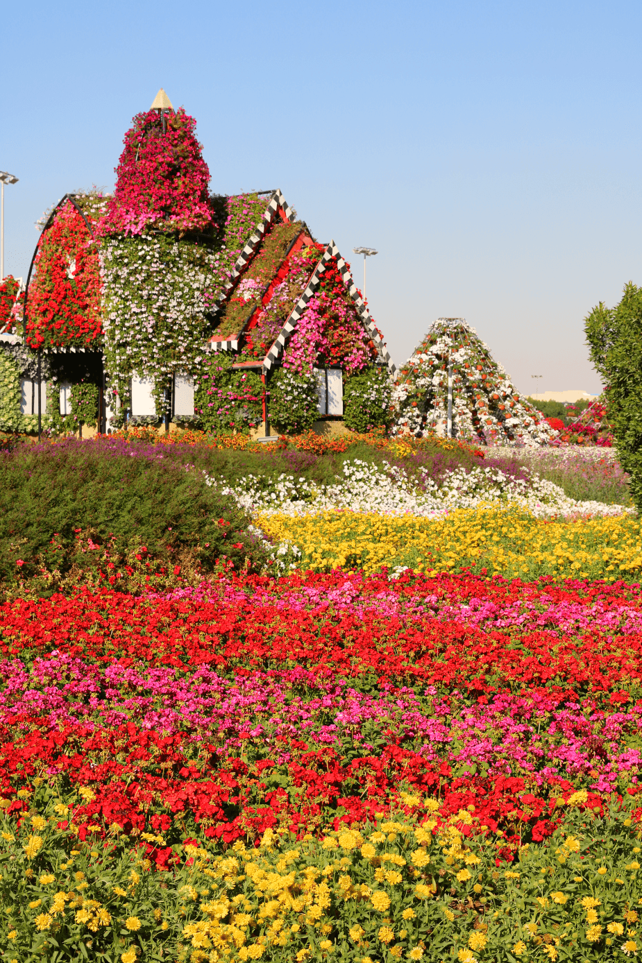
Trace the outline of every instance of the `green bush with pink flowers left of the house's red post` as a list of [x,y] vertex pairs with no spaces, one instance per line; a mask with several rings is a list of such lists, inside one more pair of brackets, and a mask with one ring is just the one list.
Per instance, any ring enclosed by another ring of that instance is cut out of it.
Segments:
[[195,379],[194,411],[201,428],[216,434],[247,434],[263,417],[263,382],[255,371],[234,371],[236,356],[216,351],[205,357]]

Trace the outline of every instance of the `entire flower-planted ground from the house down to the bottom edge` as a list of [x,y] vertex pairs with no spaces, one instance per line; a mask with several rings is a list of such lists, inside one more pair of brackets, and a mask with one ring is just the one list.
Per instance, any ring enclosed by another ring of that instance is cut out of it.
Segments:
[[0,605],[0,958],[639,955],[642,543],[614,462],[574,501],[560,455],[542,479],[438,442],[198,441],[2,455],[38,524]]

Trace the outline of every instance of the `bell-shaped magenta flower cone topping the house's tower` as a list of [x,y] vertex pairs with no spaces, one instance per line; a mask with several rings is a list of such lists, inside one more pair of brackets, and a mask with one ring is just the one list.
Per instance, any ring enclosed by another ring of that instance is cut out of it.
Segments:
[[[168,100],[169,103],[169,100]],[[124,137],[118,180],[100,233],[202,231],[211,221],[209,169],[197,141],[196,120],[181,108],[134,117]]]

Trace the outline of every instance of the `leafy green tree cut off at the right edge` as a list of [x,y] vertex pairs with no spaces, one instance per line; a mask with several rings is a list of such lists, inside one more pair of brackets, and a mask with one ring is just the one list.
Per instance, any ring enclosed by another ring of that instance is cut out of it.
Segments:
[[620,302],[601,301],[585,318],[584,330],[604,391],[618,457],[630,475],[630,494],[642,512],[642,288],[629,281]]

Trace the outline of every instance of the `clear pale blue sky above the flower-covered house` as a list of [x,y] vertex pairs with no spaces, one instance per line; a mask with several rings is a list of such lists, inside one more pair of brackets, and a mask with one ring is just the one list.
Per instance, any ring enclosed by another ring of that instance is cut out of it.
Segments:
[[46,207],[113,186],[164,87],[213,190],[280,187],[349,260],[378,248],[395,362],[462,316],[522,391],[600,390],[583,318],[642,283],[639,3],[36,0],[2,22],[7,273]]

